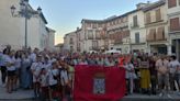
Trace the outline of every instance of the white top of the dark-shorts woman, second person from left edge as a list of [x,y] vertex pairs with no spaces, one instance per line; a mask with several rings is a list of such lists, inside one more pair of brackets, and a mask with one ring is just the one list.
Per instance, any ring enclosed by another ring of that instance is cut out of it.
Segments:
[[14,57],[7,56],[7,57],[5,57],[5,63],[7,63],[7,64],[14,64],[13,66],[7,66],[7,70],[8,70],[8,71],[13,71],[13,70],[15,70],[15,58],[14,58]]

